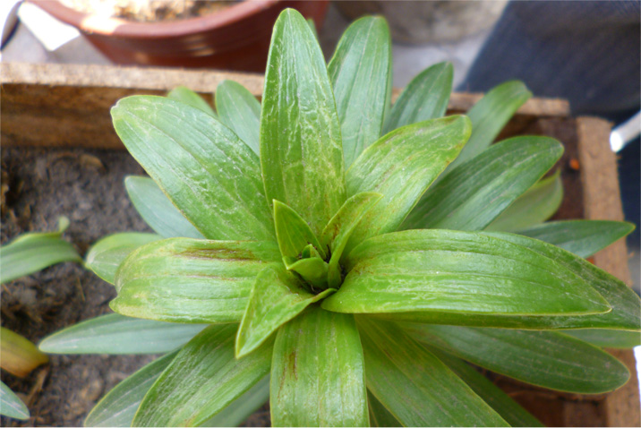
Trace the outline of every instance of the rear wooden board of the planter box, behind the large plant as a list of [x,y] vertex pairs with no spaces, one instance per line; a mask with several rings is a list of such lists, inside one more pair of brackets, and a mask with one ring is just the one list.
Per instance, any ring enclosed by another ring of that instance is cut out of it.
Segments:
[[[91,64],[0,64],[3,144],[122,150],[108,114],[118,99],[134,94],[163,95],[184,85],[210,103],[211,93],[226,79],[261,96],[260,74]],[[399,92],[394,91],[394,99]],[[449,113],[465,112],[481,97],[453,93]],[[530,124],[537,116],[568,115],[565,100],[532,98],[517,111],[515,120]]]

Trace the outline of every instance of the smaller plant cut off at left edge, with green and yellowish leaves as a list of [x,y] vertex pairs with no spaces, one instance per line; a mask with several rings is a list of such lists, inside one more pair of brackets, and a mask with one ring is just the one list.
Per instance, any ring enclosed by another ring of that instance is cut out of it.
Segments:
[[[61,217],[57,232],[31,232],[0,247],[0,284],[63,261],[82,261],[73,245],[61,238],[68,226],[69,220]],[[0,328],[0,355],[0,367],[21,378],[48,362],[47,355],[27,338],[4,327]],[[0,415],[29,419],[27,406],[4,382],[0,382]]]

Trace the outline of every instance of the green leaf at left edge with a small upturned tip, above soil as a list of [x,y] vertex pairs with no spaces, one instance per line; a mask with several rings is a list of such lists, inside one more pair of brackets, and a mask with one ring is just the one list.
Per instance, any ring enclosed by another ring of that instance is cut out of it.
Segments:
[[31,232],[0,247],[0,284],[63,261],[82,261],[73,245],[60,237],[68,226],[69,220],[61,217],[57,232]]

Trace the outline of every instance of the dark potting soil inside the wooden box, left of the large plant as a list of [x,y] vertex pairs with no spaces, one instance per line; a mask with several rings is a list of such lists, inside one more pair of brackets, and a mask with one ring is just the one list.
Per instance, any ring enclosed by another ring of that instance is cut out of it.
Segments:
[[[30,231],[64,233],[84,255],[100,237],[150,231],[127,198],[126,175],[142,168],[126,151],[2,150],[2,244]],[[63,263],[2,286],[2,326],[34,343],[78,321],[111,312],[113,286],[79,264]],[[25,398],[31,418],[2,418],[2,426],[81,426],[98,399],[153,355],[49,355],[26,379],[2,372],[2,381]],[[246,422],[269,426],[269,407]]]

